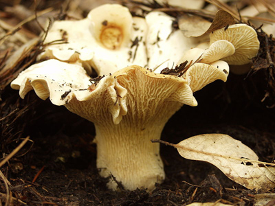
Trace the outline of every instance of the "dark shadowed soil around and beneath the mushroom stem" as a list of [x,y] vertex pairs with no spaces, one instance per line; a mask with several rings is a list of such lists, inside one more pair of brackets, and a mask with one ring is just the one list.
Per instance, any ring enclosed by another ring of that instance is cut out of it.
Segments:
[[[162,139],[177,144],[194,135],[224,133],[252,148],[261,161],[274,161],[275,119],[270,106],[275,102],[272,98],[261,102],[270,89],[266,70],[249,76],[230,73],[228,82],[217,81],[198,91],[195,98],[199,106],[183,106],[166,124]],[[50,100],[40,100],[34,92],[21,100],[18,91],[5,87],[1,100],[3,157],[21,138],[30,136],[33,141],[1,168],[10,181],[13,205],[186,205],[215,201],[253,205],[256,192],[230,181],[210,163],[184,159],[175,148],[164,145],[164,183],[150,193],[113,192],[96,169],[91,122],[63,106],[52,105]],[[0,192],[5,203],[3,181]]]

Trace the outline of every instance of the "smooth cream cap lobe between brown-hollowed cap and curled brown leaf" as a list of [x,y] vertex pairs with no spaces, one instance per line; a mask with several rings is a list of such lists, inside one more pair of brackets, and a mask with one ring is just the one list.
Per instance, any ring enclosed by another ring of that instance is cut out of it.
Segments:
[[150,12],[146,15],[148,67],[156,69],[156,73],[176,65],[186,50],[197,45],[195,38],[187,38],[180,30],[174,30],[173,21],[173,17],[163,12]]

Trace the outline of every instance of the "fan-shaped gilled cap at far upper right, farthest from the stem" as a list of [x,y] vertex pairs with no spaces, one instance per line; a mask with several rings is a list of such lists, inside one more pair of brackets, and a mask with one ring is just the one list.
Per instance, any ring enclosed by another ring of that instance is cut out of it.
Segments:
[[230,25],[227,29],[212,32],[210,45],[221,39],[234,45],[235,53],[222,59],[230,65],[247,64],[259,51],[260,43],[255,30],[244,23]]

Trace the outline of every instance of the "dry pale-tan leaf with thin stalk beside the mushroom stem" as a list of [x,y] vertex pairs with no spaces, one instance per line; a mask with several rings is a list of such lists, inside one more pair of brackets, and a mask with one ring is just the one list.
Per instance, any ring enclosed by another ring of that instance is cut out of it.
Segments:
[[228,135],[197,135],[179,144],[158,142],[177,148],[186,159],[212,163],[229,179],[250,190],[267,192],[275,187],[275,164],[259,161],[253,150]]

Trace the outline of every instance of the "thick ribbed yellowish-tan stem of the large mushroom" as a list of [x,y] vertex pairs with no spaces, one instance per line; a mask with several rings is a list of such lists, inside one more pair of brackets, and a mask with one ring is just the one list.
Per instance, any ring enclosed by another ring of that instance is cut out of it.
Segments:
[[[125,189],[144,187],[153,190],[155,183],[164,180],[164,166],[159,157],[159,139],[167,119],[156,124],[135,124],[126,115],[120,124],[96,125],[97,167],[100,175],[113,175]],[[117,183],[110,180],[108,187],[115,190]]]

